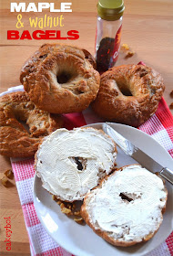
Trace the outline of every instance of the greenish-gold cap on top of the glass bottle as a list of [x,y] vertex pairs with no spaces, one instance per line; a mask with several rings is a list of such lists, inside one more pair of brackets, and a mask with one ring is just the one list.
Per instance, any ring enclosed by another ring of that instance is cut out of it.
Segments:
[[99,0],[97,14],[106,20],[117,20],[123,16],[125,10],[123,0]]

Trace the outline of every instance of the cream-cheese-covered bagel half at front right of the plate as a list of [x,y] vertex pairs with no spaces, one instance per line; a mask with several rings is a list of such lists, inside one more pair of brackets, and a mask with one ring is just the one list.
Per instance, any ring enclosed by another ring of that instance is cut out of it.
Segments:
[[87,193],[81,216],[104,240],[131,246],[158,231],[167,197],[161,178],[140,165],[128,165]]

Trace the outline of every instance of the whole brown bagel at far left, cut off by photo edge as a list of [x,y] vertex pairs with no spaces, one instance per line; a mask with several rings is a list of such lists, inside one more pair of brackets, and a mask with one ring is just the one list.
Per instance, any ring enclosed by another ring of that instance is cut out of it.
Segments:
[[[29,127],[29,132],[21,123]],[[40,111],[25,91],[0,98],[0,154],[9,157],[35,155],[41,139],[62,127],[59,115]]]

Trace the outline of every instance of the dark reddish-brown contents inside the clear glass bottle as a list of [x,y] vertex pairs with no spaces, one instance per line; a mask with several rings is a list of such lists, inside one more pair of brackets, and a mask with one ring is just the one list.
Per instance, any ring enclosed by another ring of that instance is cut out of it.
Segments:
[[105,72],[114,66],[113,51],[115,46],[115,38],[105,37],[100,41],[97,50],[97,70]]

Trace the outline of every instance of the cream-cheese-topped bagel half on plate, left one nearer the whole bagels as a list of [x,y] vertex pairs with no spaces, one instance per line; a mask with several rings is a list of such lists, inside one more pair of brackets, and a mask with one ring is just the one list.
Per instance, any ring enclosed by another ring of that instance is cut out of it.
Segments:
[[89,189],[112,171],[116,144],[94,128],[59,129],[47,136],[36,152],[36,175],[56,198],[82,200]]

